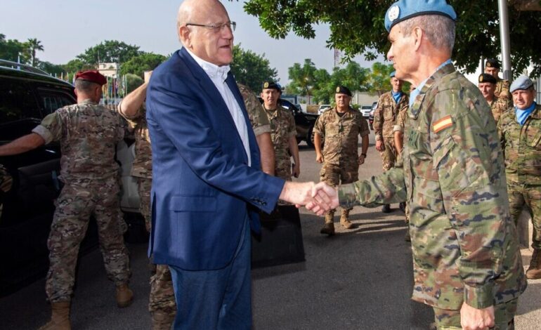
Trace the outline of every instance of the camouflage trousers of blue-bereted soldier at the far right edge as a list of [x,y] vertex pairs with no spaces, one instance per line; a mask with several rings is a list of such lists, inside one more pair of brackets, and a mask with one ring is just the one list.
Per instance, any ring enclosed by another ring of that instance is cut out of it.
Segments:
[[507,183],[507,194],[509,213],[515,225],[518,225],[522,210],[527,206],[533,223],[532,248],[541,249],[541,186]]

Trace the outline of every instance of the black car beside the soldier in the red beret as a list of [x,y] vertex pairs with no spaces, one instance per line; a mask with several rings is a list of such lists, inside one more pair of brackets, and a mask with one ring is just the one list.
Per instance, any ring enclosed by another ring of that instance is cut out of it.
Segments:
[[[71,84],[33,67],[0,60],[0,144],[25,136],[47,114],[74,103]],[[0,164],[13,177],[11,190],[0,196],[0,296],[4,296],[47,271],[46,242],[61,188],[60,144],[0,157]],[[81,253],[97,245],[97,226],[91,220]]]

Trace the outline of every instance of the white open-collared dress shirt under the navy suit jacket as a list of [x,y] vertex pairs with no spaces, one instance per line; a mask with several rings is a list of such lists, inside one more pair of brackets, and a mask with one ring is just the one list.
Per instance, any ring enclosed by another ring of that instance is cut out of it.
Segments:
[[244,114],[242,114],[240,105],[237,103],[233,92],[231,92],[228,84],[226,84],[227,75],[230,70],[229,65],[223,65],[219,67],[218,65],[198,58],[197,55],[192,53],[188,48],[185,48],[185,50],[188,51],[188,54],[190,54],[195,60],[195,62],[197,62],[197,64],[200,65],[204,72],[207,73],[211,81],[214,83],[214,86],[218,88],[218,91],[220,92],[223,101],[228,106],[231,117],[233,117],[233,121],[235,121],[235,126],[237,127],[240,139],[242,140],[242,145],[245,146],[245,151],[248,156],[248,165],[252,164],[252,158],[250,157],[250,145],[248,140],[248,129],[246,126],[245,116]]

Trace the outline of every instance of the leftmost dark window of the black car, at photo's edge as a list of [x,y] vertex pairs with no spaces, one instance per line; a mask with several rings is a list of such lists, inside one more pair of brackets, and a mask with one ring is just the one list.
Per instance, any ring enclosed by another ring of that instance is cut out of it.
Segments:
[[30,87],[22,81],[0,80],[0,123],[27,118],[41,118]]

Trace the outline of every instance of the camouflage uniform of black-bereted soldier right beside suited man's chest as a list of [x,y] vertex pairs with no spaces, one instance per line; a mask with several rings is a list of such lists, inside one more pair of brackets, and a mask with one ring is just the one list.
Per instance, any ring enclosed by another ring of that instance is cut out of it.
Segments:
[[296,136],[295,119],[291,111],[278,106],[276,110],[266,110],[271,123],[271,140],[275,152],[275,174],[278,178],[291,181],[291,156],[289,138]]

